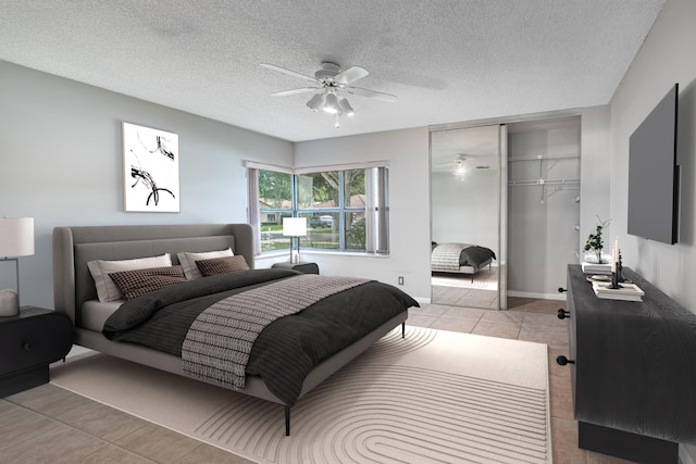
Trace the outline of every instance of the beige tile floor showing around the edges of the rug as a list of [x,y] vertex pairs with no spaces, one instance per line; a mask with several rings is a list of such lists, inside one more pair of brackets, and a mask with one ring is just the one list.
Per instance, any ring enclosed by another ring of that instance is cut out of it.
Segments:
[[[547,343],[554,462],[626,463],[577,448],[569,371],[556,364],[568,353],[566,323],[556,316],[564,301],[509,298],[508,304],[508,311],[424,304],[408,323]],[[0,462],[249,463],[50,384],[0,400]]]

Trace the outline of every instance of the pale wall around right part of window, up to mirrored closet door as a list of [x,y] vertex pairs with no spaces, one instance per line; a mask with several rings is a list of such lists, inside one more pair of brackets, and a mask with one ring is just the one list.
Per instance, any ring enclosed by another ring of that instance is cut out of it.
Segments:
[[[425,301],[430,285],[430,161],[426,127],[299,142],[295,167],[387,161],[389,163],[388,256],[311,253],[322,274],[356,275],[397,285]],[[310,258],[311,256],[311,258]]]

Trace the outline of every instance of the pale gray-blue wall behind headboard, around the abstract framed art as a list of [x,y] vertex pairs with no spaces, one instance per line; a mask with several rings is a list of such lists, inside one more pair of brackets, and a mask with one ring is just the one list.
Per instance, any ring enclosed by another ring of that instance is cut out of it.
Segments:
[[[293,143],[0,62],[0,216],[35,218],[22,304],[52,308],[55,226],[247,221],[243,160],[291,165]],[[124,213],[121,123],[179,136],[181,213]],[[0,288],[15,288],[0,262]]]

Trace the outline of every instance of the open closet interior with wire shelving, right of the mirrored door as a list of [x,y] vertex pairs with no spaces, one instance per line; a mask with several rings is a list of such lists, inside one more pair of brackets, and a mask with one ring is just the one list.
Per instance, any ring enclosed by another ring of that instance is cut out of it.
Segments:
[[581,118],[508,125],[508,294],[558,299],[577,263]]

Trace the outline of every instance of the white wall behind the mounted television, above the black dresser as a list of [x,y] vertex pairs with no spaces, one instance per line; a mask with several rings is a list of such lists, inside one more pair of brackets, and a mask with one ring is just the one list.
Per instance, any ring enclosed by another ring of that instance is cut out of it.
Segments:
[[[696,312],[695,18],[694,0],[668,0],[611,101],[612,234],[619,235],[626,266],[692,312]],[[682,165],[682,190],[680,239],[670,246],[626,234],[627,165],[629,137],[674,83],[680,84],[678,161]],[[696,447],[685,449],[693,462]],[[686,462],[684,454],[682,459]]]

